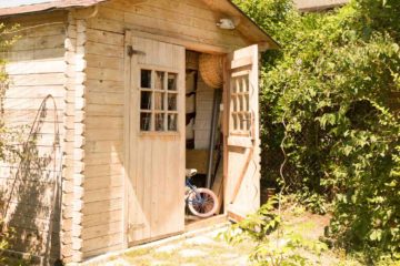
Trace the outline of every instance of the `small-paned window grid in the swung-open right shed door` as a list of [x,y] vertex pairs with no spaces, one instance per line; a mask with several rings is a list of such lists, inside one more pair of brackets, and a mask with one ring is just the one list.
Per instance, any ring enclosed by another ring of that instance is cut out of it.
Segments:
[[232,76],[230,93],[231,133],[233,135],[251,135],[250,81],[249,72]]

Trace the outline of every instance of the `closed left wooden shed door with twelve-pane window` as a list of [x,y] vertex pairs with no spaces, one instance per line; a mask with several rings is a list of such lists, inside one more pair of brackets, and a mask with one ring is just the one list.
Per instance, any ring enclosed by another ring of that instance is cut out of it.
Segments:
[[127,241],[184,229],[184,48],[127,37]]

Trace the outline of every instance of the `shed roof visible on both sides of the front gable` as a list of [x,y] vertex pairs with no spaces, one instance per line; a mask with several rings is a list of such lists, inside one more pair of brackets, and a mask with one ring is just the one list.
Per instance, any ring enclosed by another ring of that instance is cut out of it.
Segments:
[[[10,17],[23,13],[62,10],[70,8],[87,8],[110,0],[0,0],[0,17]],[[201,0],[211,10],[239,18],[238,30],[249,40],[269,49],[278,49],[279,44],[231,0]]]

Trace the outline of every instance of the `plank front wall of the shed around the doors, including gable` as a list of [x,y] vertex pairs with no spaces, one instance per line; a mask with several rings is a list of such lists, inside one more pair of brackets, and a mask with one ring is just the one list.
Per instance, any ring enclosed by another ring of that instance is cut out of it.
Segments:
[[140,32],[144,38],[157,35],[160,41],[193,42],[220,50],[246,45],[237,31],[216,27],[219,17],[197,0],[114,0],[100,4],[98,14],[88,20],[84,257],[126,245],[122,212],[126,30]]

